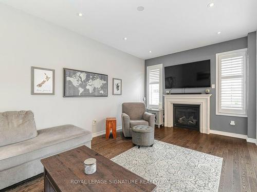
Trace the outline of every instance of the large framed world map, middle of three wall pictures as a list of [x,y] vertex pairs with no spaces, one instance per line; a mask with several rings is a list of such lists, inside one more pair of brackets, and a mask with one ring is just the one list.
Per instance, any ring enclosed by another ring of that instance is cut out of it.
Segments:
[[63,97],[107,97],[108,75],[63,69]]

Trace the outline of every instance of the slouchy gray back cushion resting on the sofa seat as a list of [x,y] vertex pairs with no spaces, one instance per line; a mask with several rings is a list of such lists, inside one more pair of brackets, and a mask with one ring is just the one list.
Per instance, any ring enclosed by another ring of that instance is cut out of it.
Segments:
[[0,113],[0,146],[36,137],[32,111],[7,111]]

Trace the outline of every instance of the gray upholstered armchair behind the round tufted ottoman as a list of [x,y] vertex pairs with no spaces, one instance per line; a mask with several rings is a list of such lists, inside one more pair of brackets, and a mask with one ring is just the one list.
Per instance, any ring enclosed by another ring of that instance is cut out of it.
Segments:
[[145,110],[142,102],[122,103],[122,131],[124,137],[132,137],[132,127],[135,125],[149,125],[154,128],[154,114]]

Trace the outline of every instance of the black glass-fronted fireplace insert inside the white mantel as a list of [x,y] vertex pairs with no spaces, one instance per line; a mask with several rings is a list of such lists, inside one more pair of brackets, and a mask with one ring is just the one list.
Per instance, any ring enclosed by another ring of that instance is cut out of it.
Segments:
[[173,104],[173,125],[200,131],[200,105]]

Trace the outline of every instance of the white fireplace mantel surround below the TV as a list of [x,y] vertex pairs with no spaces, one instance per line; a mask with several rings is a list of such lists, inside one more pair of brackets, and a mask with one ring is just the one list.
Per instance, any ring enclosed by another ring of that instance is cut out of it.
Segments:
[[173,104],[200,105],[200,132],[210,134],[211,94],[181,94],[164,96],[164,126],[173,126]]

